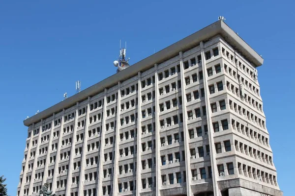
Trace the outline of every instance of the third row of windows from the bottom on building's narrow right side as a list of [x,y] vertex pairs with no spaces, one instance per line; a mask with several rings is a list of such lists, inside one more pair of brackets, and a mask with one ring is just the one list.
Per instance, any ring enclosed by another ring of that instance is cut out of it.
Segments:
[[268,138],[266,138],[262,134],[256,131],[253,131],[252,129],[249,129],[247,126],[235,121],[234,119],[232,119],[232,126],[234,130],[242,133],[243,135],[247,136],[249,139],[255,140],[255,143],[260,143],[269,147]]

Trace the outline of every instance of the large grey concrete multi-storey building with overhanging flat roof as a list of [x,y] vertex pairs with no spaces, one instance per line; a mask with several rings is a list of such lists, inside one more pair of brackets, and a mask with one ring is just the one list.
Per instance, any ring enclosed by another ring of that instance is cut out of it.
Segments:
[[34,115],[17,195],[282,196],[262,64],[219,20]]

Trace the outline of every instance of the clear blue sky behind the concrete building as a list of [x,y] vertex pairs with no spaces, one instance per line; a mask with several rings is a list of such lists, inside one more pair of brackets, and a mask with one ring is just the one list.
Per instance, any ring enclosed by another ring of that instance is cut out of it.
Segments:
[[278,183],[294,195],[295,3],[288,0],[2,0],[0,2],[0,175],[16,188],[23,120],[116,73],[119,40],[134,64],[226,18],[265,59],[258,68]]

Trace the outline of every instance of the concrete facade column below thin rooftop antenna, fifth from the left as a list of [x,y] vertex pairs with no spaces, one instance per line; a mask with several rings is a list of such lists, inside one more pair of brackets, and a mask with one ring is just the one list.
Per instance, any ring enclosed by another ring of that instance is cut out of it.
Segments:
[[[66,185],[66,192],[65,195],[66,196],[70,196],[71,194],[71,186],[72,186],[72,172],[73,172],[73,168],[74,168],[74,156],[75,156],[75,145],[76,145],[76,134],[77,134],[77,126],[78,126],[78,107],[79,107],[79,103],[76,103],[76,112],[75,112],[75,120],[74,120],[74,126],[73,126],[73,130],[72,130],[72,146],[71,146],[71,154],[70,154],[70,164],[69,164],[69,169],[68,169],[68,173],[67,173],[67,185]],[[89,109],[89,107],[87,108]],[[81,181],[81,177],[80,177],[80,181]]]

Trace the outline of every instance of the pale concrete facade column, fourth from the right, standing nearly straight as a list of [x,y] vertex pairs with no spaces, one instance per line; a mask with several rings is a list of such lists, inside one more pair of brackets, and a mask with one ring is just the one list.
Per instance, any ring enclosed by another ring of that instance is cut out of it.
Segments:
[[141,171],[142,171],[142,166],[141,166],[141,153],[142,153],[142,148],[141,148],[141,120],[142,120],[142,115],[141,115],[141,72],[138,73],[138,101],[137,101],[137,155],[136,155],[136,160],[137,160],[137,167],[136,167],[136,195],[140,196],[140,192],[142,190],[142,183],[141,183]]

